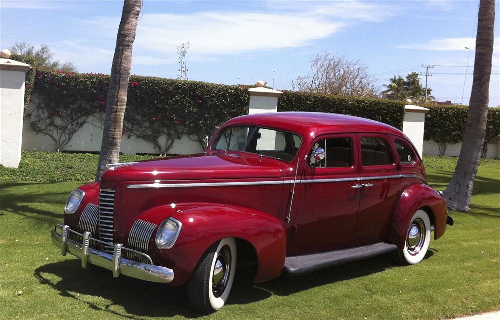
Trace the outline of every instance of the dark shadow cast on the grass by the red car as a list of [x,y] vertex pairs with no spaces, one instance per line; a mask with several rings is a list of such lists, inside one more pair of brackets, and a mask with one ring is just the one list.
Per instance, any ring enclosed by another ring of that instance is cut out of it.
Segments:
[[[429,250],[425,258],[432,254]],[[386,254],[299,277],[282,276],[255,285],[251,284],[251,278],[243,269],[234,281],[227,304],[248,304],[272,295],[288,296],[314,287],[382,272],[395,266],[393,259]],[[98,267],[83,269],[77,259],[40,266],[35,270],[34,276],[42,284],[57,290],[61,296],[86,303],[91,309],[124,318],[175,315],[196,318],[204,315],[189,307],[185,287],[172,288],[126,276],[114,279],[108,270]],[[125,312],[121,312],[121,309]]]

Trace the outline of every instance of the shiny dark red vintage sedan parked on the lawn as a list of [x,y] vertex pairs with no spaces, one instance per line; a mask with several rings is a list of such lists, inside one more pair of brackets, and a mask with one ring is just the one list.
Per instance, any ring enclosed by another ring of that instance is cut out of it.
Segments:
[[145,281],[187,284],[202,312],[237,265],[255,282],[395,252],[422,261],[453,224],[399,130],[305,112],[240,116],[201,154],[109,165],[74,190],[52,231],[62,255]]

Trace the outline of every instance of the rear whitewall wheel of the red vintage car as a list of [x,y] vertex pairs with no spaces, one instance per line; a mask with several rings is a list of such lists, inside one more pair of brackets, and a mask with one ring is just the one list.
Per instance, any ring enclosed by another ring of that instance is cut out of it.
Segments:
[[417,210],[408,226],[404,249],[399,250],[399,262],[403,265],[420,263],[430,244],[430,219],[427,212]]

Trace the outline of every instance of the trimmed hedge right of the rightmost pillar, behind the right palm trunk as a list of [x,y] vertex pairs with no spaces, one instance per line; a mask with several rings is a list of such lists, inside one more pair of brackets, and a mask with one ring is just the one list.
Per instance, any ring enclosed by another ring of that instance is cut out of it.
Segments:
[[[467,123],[468,106],[425,105],[425,140],[438,143],[458,143],[463,139]],[[500,109],[488,109],[485,143],[500,142]]]

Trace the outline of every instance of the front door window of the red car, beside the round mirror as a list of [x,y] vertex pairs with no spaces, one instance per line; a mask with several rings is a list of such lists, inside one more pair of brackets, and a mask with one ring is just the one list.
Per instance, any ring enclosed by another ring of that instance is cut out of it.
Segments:
[[326,152],[326,157],[319,167],[321,168],[346,168],[353,165],[352,140],[350,138],[323,139],[314,145],[321,147]]

